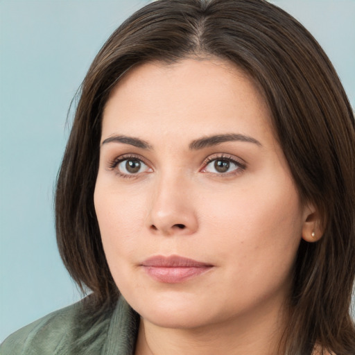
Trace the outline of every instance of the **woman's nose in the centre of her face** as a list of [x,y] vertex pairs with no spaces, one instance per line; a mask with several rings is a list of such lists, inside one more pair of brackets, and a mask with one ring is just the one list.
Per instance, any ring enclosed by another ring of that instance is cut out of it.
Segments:
[[147,217],[154,234],[189,235],[198,230],[191,182],[178,176],[161,178],[155,184]]

